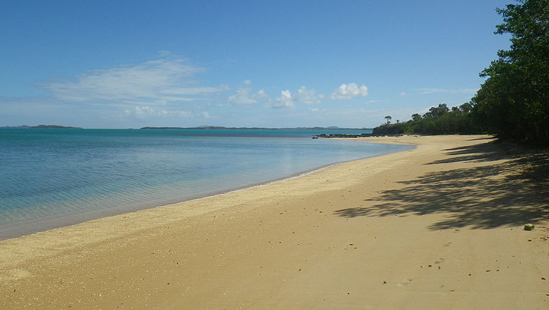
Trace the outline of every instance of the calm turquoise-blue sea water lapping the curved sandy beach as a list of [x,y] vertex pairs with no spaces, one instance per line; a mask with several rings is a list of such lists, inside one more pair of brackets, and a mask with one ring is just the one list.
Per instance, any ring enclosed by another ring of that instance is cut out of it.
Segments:
[[3,129],[0,239],[410,148],[311,139],[330,132]]

